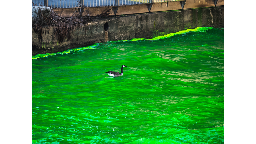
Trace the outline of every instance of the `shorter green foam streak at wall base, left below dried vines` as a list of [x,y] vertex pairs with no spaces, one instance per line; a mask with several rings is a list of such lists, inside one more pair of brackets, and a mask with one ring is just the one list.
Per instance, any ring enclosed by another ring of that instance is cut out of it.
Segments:
[[97,49],[96,46],[99,46],[99,45],[100,45],[99,43],[95,43],[92,46],[68,49],[68,50],[65,50],[63,52],[57,52],[57,53],[52,53],[52,54],[49,54],[49,53],[47,53],[47,54],[37,54],[35,56],[32,56],[32,59],[38,59],[38,58],[53,56],[53,55],[57,55],[57,54],[62,54],[63,55],[63,54],[68,54],[68,53],[75,52],[75,51],[83,51],[83,50],[86,50],[86,49]]

